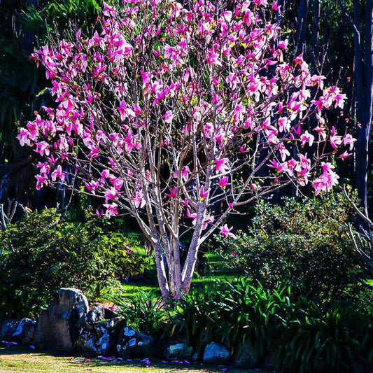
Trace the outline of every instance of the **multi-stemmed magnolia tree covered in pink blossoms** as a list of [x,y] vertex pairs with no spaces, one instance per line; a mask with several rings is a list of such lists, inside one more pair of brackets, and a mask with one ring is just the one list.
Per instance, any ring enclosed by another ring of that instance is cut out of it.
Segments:
[[64,183],[100,197],[107,218],[136,218],[164,299],[177,299],[202,243],[233,236],[224,223],[239,206],[290,183],[316,194],[337,183],[328,160],[354,139],[323,112],[345,95],[285,58],[276,3],[122,0],[102,13],[92,35],[34,52],[55,104],[18,138],[43,159],[36,188]]

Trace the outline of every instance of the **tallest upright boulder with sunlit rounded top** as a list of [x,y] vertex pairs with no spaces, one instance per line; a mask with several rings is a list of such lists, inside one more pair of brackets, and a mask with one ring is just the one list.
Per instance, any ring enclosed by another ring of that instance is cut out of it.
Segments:
[[72,352],[85,325],[88,302],[80,290],[61,288],[41,313],[34,344],[38,349]]

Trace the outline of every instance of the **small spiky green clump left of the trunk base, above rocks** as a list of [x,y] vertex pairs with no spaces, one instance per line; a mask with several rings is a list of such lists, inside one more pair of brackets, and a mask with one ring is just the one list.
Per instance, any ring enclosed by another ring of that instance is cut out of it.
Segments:
[[148,335],[159,336],[164,323],[167,321],[167,311],[164,302],[156,290],[138,290],[128,297],[118,292],[108,300],[113,302],[118,309],[118,314],[127,319],[127,323],[140,332]]

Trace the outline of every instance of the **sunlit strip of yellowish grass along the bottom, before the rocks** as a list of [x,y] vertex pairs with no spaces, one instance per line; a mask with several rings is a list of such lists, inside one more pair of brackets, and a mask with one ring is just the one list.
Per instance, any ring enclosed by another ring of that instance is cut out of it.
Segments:
[[[152,361],[150,365],[140,361],[110,362],[90,358],[85,360],[82,356],[63,356],[58,354],[48,355],[38,351],[30,351],[21,347],[0,348],[0,373],[73,373],[73,372],[134,372],[134,373],[167,373],[167,372],[254,372],[252,370],[234,370],[223,367],[211,368],[201,364],[167,364],[160,361]],[[226,370],[227,369],[227,370]],[[264,371],[262,371],[264,372]]]

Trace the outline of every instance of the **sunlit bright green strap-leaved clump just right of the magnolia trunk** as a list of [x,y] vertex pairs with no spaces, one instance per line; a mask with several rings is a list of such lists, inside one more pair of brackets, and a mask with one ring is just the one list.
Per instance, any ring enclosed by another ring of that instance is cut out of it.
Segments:
[[211,341],[239,356],[248,343],[259,356],[272,349],[278,311],[288,305],[289,288],[266,290],[260,283],[240,280],[205,286],[185,295],[172,318],[172,335],[195,346],[197,351]]

